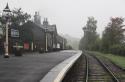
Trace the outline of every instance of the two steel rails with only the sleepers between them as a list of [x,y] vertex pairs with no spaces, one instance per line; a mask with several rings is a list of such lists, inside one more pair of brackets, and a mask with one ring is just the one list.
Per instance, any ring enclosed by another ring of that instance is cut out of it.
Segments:
[[120,82],[113,72],[97,57],[85,54],[86,82]]

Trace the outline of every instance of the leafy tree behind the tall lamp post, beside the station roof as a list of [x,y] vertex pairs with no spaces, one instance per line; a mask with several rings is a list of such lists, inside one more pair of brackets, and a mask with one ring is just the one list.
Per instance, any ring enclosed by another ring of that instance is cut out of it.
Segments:
[[[10,15],[10,22],[11,22],[11,27],[13,28],[20,27],[22,24],[24,24],[31,18],[30,14],[23,12],[21,8],[13,9],[11,13],[12,14]],[[3,29],[3,32],[5,32],[6,19],[2,16],[0,17],[0,23]]]

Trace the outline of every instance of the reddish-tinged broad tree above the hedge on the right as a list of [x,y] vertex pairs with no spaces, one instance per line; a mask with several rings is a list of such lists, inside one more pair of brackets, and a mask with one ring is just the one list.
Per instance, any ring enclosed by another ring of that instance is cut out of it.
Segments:
[[[124,19],[120,17],[111,18],[106,26],[102,36],[103,51],[110,51],[114,45],[120,45],[124,42],[123,28]],[[116,47],[116,46],[114,46]]]

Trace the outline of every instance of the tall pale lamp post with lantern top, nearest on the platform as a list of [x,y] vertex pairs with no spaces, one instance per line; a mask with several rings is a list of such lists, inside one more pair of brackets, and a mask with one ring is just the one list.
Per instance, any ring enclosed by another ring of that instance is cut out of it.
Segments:
[[6,41],[5,41],[5,55],[4,55],[4,58],[9,58],[9,50],[8,50],[8,45],[9,45],[9,41],[8,41],[8,27],[9,27],[9,21],[10,21],[10,16],[11,14],[11,11],[9,9],[9,6],[8,6],[8,3],[5,7],[5,9],[3,10],[3,17],[5,18],[6,20]]

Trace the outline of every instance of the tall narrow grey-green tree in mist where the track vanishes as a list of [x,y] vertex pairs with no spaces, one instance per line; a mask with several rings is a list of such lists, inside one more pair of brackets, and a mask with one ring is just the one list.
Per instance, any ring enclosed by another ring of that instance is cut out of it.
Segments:
[[96,39],[98,37],[96,33],[97,21],[94,17],[88,17],[87,24],[83,27],[84,37],[81,38],[79,48],[81,50],[94,50]]

